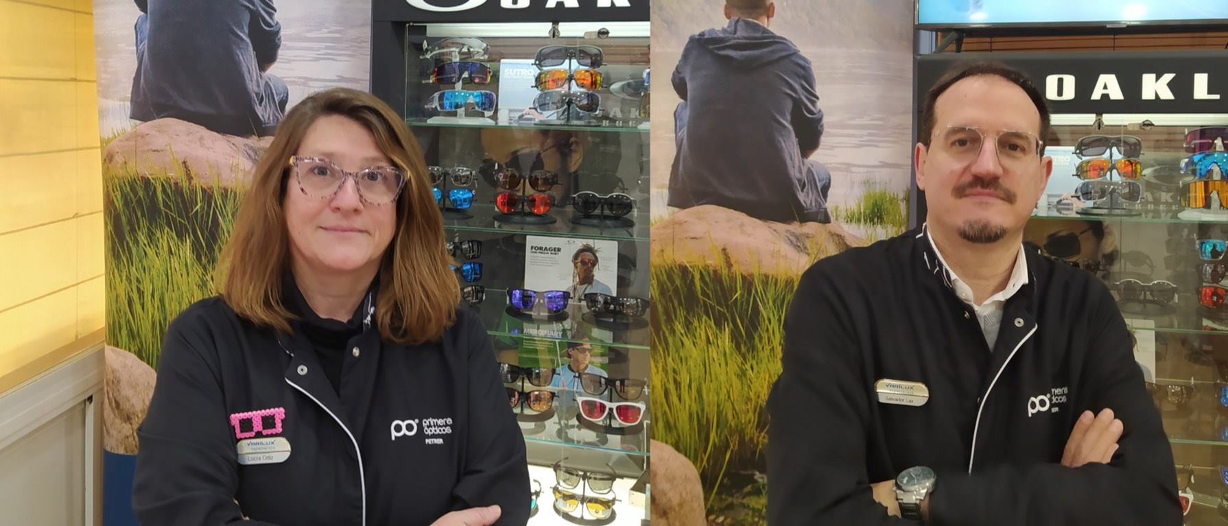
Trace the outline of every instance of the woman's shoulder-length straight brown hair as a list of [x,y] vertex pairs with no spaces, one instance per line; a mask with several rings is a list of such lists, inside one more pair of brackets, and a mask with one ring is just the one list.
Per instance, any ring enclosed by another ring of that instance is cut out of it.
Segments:
[[387,342],[437,342],[456,323],[460,290],[445,249],[443,216],[435,205],[418,140],[383,101],[371,93],[333,88],[290,111],[255,166],[235,229],[216,270],[217,289],[236,313],[258,326],[290,332],[295,316],[281,297],[290,263],[290,235],[282,210],[290,156],[307,129],[324,116],[344,116],[366,127],[376,144],[405,171],[397,198],[397,230],[379,267],[376,324]]

